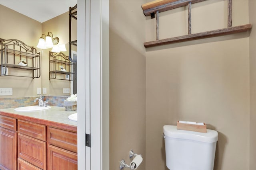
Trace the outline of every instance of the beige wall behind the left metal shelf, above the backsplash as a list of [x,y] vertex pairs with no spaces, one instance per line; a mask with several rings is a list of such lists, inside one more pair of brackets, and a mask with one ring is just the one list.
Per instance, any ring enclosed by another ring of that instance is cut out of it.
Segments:
[[[0,38],[18,39],[35,47],[41,32],[40,22],[0,5]],[[14,71],[19,71],[19,69]],[[0,87],[12,88],[13,94],[12,96],[0,96],[0,98],[36,96],[36,88],[41,87],[41,78],[0,76]]]

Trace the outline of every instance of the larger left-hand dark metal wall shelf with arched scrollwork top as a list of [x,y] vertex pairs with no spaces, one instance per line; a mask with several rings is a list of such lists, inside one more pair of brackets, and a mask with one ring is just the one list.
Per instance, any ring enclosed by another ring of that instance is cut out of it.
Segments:
[[[0,55],[0,76],[40,77],[40,53],[37,53],[34,47],[18,39],[0,38]],[[20,61],[24,61],[27,65],[19,65]],[[14,68],[23,71],[19,72]]]

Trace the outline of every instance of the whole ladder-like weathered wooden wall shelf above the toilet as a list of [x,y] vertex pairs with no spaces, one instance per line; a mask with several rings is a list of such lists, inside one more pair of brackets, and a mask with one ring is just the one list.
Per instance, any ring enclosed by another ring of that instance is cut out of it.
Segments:
[[[228,27],[223,29],[216,29],[202,33],[194,33],[191,31],[191,5],[204,0],[155,0],[142,5],[145,16],[155,18],[156,14],[156,40],[144,43],[144,47],[154,47],[158,45],[166,45],[170,43],[179,43],[184,41],[192,41],[196,39],[203,39],[209,37],[217,37],[222,35],[234,34],[248,31],[252,28],[252,24],[239,25],[232,27],[232,0],[228,1]],[[172,10],[182,6],[188,6],[188,35],[179,37],[172,37],[159,40],[159,12]]]

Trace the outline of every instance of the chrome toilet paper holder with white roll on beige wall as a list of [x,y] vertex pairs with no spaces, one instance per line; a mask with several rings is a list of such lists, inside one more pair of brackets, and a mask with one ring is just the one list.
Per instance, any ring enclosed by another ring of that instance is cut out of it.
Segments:
[[136,170],[138,168],[138,166],[140,165],[140,163],[143,160],[141,154],[136,154],[136,153],[134,153],[133,150],[130,150],[129,158],[132,158],[132,157],[135,157],[135,158],[132,160],[130,165],[126,164],[124,159],[121,160],[120,170],[122,170],[123,168],[130,168],[131,170]]

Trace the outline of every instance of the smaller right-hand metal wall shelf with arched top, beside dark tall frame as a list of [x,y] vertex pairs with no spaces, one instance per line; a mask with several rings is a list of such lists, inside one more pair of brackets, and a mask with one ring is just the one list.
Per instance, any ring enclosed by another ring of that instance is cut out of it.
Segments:
[[[57,80],[75,80],[76,74],[71,72],[72,65],[75,64],[69,61],[69,57],[63,53],[53,53],[49,51],[49,79]],[[63,67],[66,71],[61,69]]]

